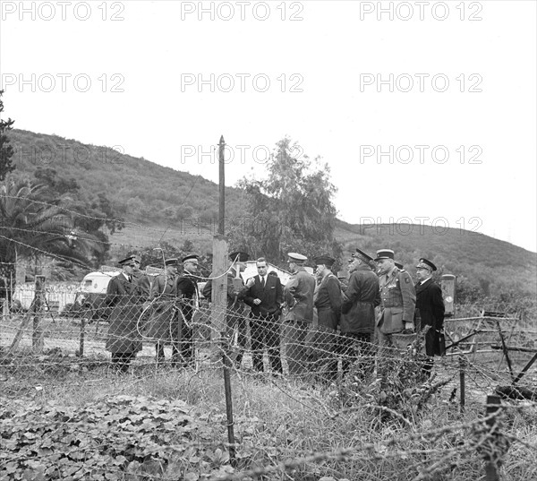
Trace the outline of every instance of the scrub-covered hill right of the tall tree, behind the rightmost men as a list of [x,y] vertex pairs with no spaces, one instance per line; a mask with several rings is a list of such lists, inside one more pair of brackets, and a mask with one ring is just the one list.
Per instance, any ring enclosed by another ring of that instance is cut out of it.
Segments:
[[393,249],[396,259],[411,273],[415,262],[426,257],[435,262],[440,274],[456,274],[485,295],[509,290],[537,292],[537,254],[476,232],[435,231],[418,225],[357,226],[339,221],[336,236],[349,252],[355,247],[371,254],[383,247]]

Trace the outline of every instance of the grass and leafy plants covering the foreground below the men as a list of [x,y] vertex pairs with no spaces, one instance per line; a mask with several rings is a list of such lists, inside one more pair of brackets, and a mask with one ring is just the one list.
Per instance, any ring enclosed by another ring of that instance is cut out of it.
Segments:
[[413,386],[394,378],[392,404],[353,375],[327,385],[234,373],[232,466],[217,365],[140,359],[120,376],[104,357],[3,359],[0,477],[462,481],[482,477],[493,449],[506,479],[537,477],[535,404],[504,402],[500,439],[490,437],[482,392],[469,388],[461,414],[448,369]]

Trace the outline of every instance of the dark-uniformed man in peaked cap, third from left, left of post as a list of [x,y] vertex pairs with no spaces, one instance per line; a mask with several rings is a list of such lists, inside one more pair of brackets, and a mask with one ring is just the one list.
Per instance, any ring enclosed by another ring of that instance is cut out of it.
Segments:
[[180,357],[186,365],[191,365],[194,359],[193,348],[193,326],[192,317],[195,311],[200,307],[200,293],[198,292],[198,266],[200,257],[195,253],[183,257],[183,274],[177,279],[177,296],[180,299],[180,335],[179,348],[175,356]]

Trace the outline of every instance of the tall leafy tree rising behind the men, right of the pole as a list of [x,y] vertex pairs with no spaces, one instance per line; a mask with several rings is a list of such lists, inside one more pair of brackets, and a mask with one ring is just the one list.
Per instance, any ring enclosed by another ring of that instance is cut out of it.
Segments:
[[336,187],[330,170],[319,158],[296,158],[296,143],[285,138],[268,160],[267,178],[246,179],[248,216],[231,223],[229,236],[236,248],[247,248],[283,265],[286,253],[298,251],[310,259],[320,253],[338,258],[341,245],[334,239]]

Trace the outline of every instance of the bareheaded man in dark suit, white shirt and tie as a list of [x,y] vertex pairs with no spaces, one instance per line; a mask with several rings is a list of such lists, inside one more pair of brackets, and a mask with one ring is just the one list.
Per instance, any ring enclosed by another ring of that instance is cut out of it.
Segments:
[[280,314],[284,291],[277,276],[268,275],[267,260],[260,257],[256,262],[258,275],[248,279],[248,291],[244,303],[250,305],[250,332],[253,368],[263,371],[263,351],[273,373],[283,374],[280,358]]

